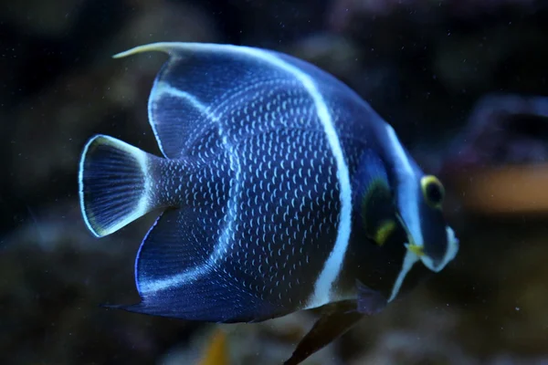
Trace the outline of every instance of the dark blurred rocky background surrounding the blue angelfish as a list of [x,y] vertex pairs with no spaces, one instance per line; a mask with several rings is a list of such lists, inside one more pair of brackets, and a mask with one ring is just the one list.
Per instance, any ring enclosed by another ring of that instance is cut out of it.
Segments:
[[[1,363],[190,364],[214,328],[100,308],[136,300],[153,217],[97,240],[79,214],[91,135],[159,153],[146,100],[164,57],[111,58],[155,41],[307,59],[448,187],[457,260],[309,364],[548,363],[548,99],[530,99],[548,96],[548,3],[533,0],[0,1]],[[482,175],[520,166],[526,183]],[[278,364],[312,320],[225,326],[232,363]]]

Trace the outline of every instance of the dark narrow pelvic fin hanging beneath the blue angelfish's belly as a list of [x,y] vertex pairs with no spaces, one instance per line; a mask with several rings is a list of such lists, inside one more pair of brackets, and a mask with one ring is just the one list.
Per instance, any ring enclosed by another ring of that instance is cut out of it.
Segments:
[[313,353],[329,345],[353,327],[363,313],[356,310],[355,302],[342,302],[327,309],[311,330],[300,340],[289,360],[284,365],[297,365]]

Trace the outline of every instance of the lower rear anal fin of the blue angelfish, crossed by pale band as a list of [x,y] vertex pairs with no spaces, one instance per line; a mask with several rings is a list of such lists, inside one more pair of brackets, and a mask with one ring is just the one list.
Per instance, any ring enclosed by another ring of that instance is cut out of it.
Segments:
[[[215,211],[218,209],[218,212]],[[283,308],[261,300],[246,273],[227,259],[231,244],[222,207],[166,210],[144,238],[135,261],[141,303],[131,312],[208,322],[249,322],[277,317]],[[261,283],[256,283],[261,285]]]

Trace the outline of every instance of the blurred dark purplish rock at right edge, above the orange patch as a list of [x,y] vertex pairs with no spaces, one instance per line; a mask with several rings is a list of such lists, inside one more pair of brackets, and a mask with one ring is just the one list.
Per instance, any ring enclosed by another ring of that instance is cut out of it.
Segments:
[[548,98],[489,95],[449,145],[446,170],[548,161]]

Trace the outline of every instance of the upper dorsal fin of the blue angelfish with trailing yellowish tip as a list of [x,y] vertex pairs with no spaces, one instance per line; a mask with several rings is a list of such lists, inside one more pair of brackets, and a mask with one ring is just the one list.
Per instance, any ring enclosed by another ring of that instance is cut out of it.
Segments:
[[[230,134],[237,136],[244,129],[265,127],[261,124],[265,118],[261,117],[273,112],[268,110],[270,103],[265,101],[264,105],[257,105],[257,110],[251,110],[250,106],[253,101],[262,101],[261,93],[265,90],[294,92],[300,89],[303,95],[308,93],[306,97],[311,105],[314,92],[321,98],[311,78],[291,63],[295,61],[293,57],[255,47],[155,43],[132,48],[114,57],[149,51],[169,55],[154,80],[148,104],[151,126],[163,155],[168,158],[184,155],[207,130],[216,129],[219,135],[227,138]],[[282,94],[276,95],[283,98]],[[300,95],[291,97],[299,98]],[[248,112],[251,118],[244,115]],[[234,122],[237,117],[239,123]],[[243,118],[247,118],[246,124],[243,124]],[[315,127],[322,129],[319,123]]]

